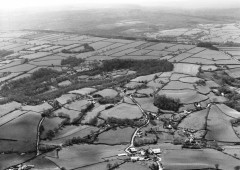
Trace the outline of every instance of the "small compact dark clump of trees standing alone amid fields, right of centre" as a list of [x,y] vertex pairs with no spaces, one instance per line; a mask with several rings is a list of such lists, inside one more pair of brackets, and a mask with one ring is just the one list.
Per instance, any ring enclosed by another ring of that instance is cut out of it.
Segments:
[[172,110],[177,112],[181,106],[179,99],[173,99],[166,97],[166,95],[157,95],[154,98],[154,103],[156,107],[162,110]]

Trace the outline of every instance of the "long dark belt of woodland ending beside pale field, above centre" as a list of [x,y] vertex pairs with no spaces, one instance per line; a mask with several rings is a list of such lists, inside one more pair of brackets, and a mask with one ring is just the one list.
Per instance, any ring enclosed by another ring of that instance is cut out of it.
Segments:
[[157,72],[167,72],[173,70],[173,64],[167,60],[131,60],[113,59],[104,60],[98,69],[102,72],[113,70],[130,69],[137,71],[138,75],[147,75]]

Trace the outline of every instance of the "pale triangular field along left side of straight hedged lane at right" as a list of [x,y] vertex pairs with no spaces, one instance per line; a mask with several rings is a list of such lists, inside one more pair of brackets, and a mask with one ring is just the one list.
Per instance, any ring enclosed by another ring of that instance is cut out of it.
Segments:
[[191,113],[178,125],[178,127],[203,130],[206,126],[208,109]]

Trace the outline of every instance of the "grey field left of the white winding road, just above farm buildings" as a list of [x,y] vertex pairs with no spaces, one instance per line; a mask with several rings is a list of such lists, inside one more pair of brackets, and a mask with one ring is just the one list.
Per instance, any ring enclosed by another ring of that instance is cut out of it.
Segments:
[[135,129],[127,127],[127,128],[117,128],[116,130],[109,130],[101,133],[98,136],[98,140],[95,143],[102,144],[128,144],[131,141],[131,137],[134,133]]

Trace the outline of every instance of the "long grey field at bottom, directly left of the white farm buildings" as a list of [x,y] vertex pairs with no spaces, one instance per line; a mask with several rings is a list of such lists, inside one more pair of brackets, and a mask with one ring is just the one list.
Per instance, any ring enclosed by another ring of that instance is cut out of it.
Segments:
[[74,145],[59,152],[58,158],[48,157],[60,167],[67,169],[103,162],[105,157],[116,156],[123,153],[125,145]]

